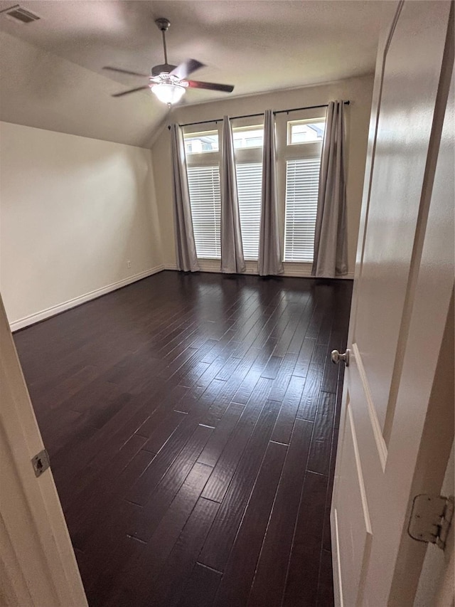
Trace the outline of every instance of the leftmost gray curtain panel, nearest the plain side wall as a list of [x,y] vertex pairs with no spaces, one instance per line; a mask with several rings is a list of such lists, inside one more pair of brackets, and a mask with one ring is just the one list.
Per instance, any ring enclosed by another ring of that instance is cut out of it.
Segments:
[[198,272],[200,268],[194,243],[193,219],[191,218],[190,194],[186,174],[185,144],[182,130],[178,125],[171,126],[171,152],[177,269],[184,272]]

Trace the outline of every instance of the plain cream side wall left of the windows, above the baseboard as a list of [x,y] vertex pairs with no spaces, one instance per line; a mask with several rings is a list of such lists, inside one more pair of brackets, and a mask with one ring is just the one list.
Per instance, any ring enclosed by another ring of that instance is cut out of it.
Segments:
[[0,136],[0,290],[13,329],[162,269],[149,149],[6,122]]

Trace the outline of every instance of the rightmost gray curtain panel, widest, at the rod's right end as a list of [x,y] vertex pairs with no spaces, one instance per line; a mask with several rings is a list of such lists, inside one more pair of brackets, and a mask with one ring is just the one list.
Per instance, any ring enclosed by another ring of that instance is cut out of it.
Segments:
[[348,273],[346,185],[344,174],[344,102],[327,107],[319,174],[318,212],[311,274],[335,278]]

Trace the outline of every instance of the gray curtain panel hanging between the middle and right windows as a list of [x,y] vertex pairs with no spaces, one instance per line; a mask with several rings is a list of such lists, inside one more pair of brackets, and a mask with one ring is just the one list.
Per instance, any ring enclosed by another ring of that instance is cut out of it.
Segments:
[[282,247],[279,238],[277,162],[275,158],[275,121],[272,110],[264,113],[262,151],[261,227],[259,232],[259,275],[281,274]]

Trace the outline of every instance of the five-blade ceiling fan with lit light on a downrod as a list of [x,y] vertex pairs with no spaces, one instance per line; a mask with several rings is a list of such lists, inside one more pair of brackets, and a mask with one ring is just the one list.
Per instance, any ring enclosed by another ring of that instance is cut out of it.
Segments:
[[149,84],[142,85],[130,90],[124,90],[122,93],[116,93],[112,97],[122,97],[129,93],[136,93],[137,90],[150,88],[151,92],[158,97],[160,101],[166,103],[169,107],[181,100],[187,88],[205,88],[208,90],[220,90],[223,93],[232,93],[234,87],[227,84],[205,83],[199,80],[188,80],[188,76],[196,70],[205,67],[196,59],[187,59],[180,65],[170,65],[168,63],[168,53],[166,49],[166,31],[168,31],[171,22],[168,19],[156,19],[156,25],[161,30],[163,36],[163,51],[164,63],[162,65],[154,65],[151,68],[151,75],[130,72],[121,68],[112,68],[106,65],[103,70],[111,70],[112,72],[120,72],[122,74],[130,74],[132,76],[141,76],[149,78]]

